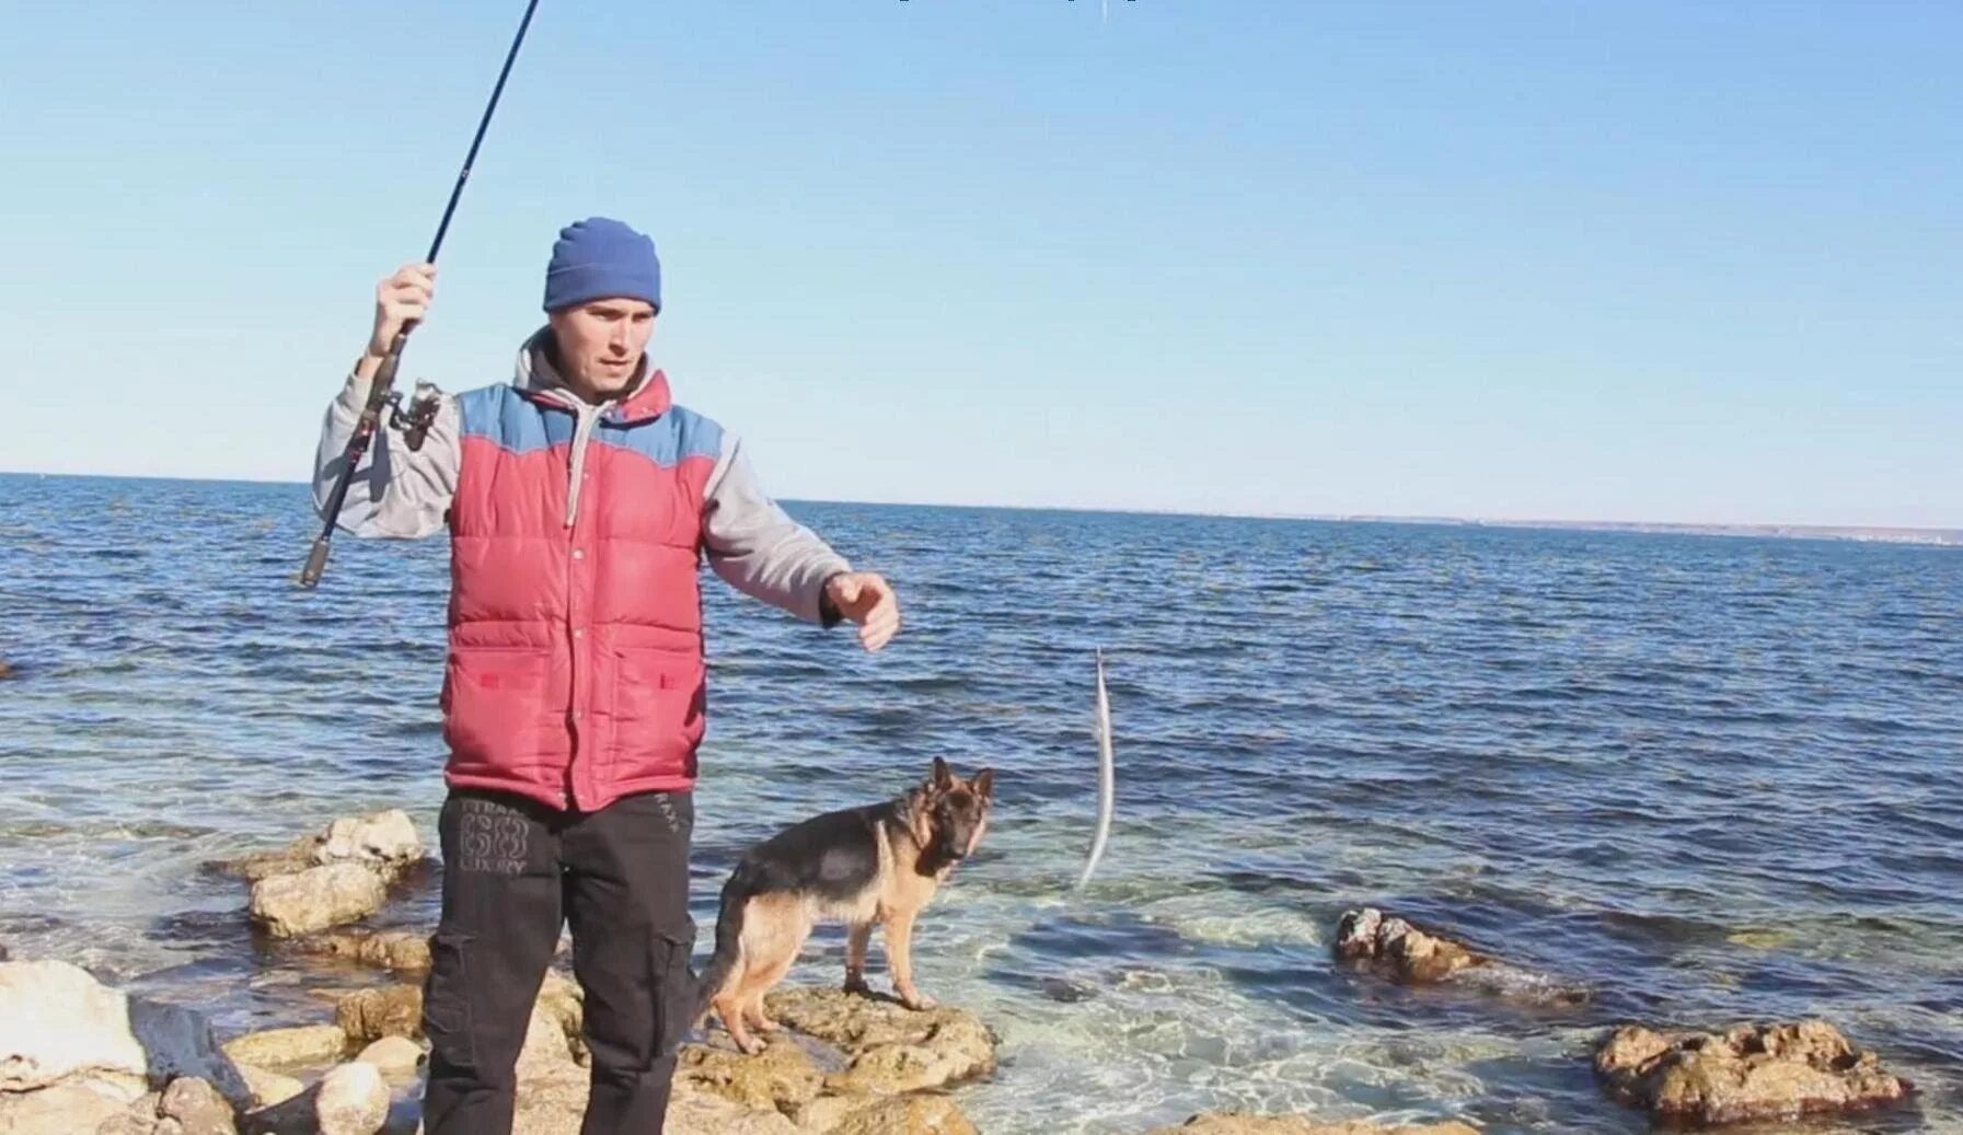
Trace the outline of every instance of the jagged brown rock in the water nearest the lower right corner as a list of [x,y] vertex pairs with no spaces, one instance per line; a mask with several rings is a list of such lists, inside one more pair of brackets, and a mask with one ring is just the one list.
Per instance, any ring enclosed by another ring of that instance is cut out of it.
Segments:
[[1724,1033],[1631,1025],[1596,1051],[1596,1072],[1618,1100],[1667,1123],[1794,1121],[1883,1108],[1914,1092],[1826,1021]]

